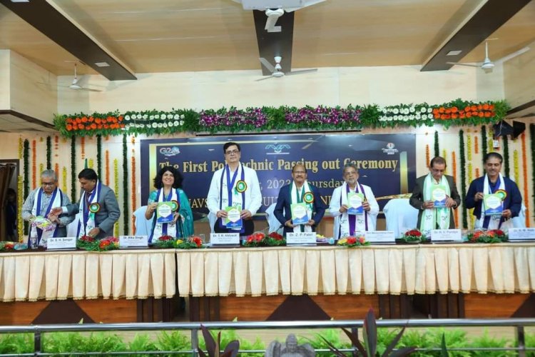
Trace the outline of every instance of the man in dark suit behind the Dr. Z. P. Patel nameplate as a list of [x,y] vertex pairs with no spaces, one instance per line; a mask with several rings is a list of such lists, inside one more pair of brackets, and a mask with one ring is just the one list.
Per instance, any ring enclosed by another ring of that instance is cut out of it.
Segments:
[[[317,188],[307,182],[307,169],[303,164],[293,166],[292,178],[292,183],[280,188],[273,213],[280,224],[284,226],[284,233],[315,231],[325,213],[325,203],[323,203]],[[309,218],[306,223],[296,225],[292,223],[292,203],[305,203]]]

